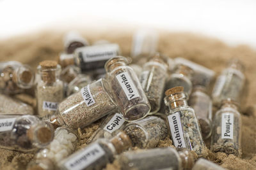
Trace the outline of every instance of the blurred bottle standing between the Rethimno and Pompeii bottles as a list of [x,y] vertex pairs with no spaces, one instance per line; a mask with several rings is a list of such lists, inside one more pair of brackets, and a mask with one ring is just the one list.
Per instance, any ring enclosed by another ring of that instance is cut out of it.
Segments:
[[203,138],[208,139],[212,134],[212,100],[205,87],[194,87],[189,98],[189,106],[195,110]]

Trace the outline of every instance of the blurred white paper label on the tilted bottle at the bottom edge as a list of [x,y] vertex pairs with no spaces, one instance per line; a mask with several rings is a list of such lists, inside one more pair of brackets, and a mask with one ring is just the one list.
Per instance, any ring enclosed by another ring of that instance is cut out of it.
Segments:
[[99,159],[105,154],[104,150],[98,143],[90,145],[88,148],[79,152],[72,159],[65,162],[64,166],[70,170],[85,169],[90,166],[95,160]]

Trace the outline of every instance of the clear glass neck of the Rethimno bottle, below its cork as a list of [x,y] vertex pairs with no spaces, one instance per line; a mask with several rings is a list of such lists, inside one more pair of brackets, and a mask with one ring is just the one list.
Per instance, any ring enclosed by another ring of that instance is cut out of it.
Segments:
[[188,97],[186,92],[178,92],[171,94],[170,96],[166,96],[164,98],[164,103],[170,110],[175,110],[176,108],[188,106],[187,99]]

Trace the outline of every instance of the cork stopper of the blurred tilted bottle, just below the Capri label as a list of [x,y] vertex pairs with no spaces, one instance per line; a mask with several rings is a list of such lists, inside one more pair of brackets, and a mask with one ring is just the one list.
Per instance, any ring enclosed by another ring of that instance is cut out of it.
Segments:
[[115,146],[116,153],[122,153],[132,146],[131,139],[124,131],[118,132],[114,138],[110,139],[110,142]]

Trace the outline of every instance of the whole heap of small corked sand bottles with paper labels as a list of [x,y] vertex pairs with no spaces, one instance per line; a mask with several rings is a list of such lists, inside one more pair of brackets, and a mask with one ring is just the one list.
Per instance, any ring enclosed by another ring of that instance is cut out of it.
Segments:
[[[245,77],[238,60],[228,62],[210,94],[214,71],[157,53],[156,32],[134,35],[132,57],[120,56],[120,47],[108,41],[89,45],[76,32],[64,44],[58,62],[40,62],[36,75],[19,62],[0,63],[6,97],[36,89],[36,115],[0,115],[1,148],[37,151],[28,169],[102,169],[114,159],[121,169],[223,169],[196,161],[207,157],[210,138],[212,152],[241,156]],[[76,129],[102,117],[90,145],[77,150]],[[156,148],[166,138],[176,150]]]

